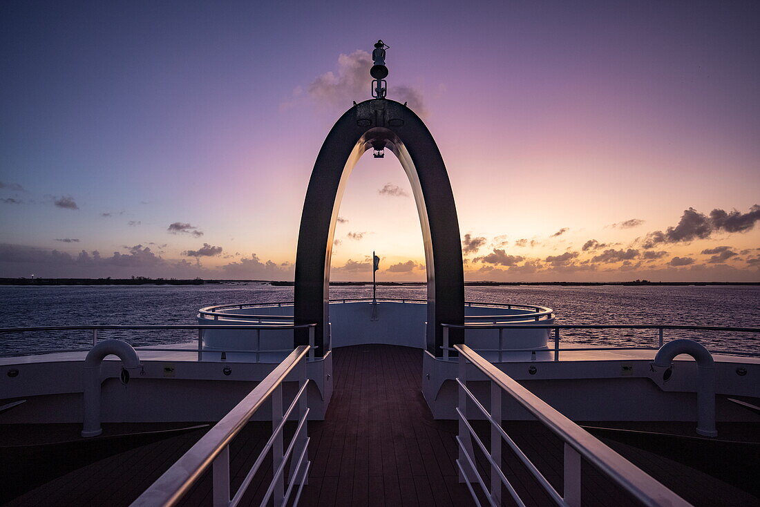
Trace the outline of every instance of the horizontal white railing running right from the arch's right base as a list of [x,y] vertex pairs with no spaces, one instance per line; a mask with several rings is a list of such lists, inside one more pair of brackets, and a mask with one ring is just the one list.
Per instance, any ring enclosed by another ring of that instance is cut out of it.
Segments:
[[[469,323],[465,325],[457,324],[442,324],[443,328],[443,344],[442,344],[442,356],[445,360],[452,359],[451,352],[454,352],[454,348],[451,347],[451,329],[464,330],[464,340],[467,342],[467,330],[470,329],[497,329],[499,330],[499,347],[498,348],[477,348],[474,349],[477,352],[496,352],[499,353],[499,361],[503,360],[505,353],[511,352],[546,352],[547,350],[554,353],[554,360],[559,361],[560,352],[584,352],[589,350],[660,350],[660,347],[665,343],[665,331],[666,330],[682,330],[682,331],[730,331],[735,333],[760,333],[760,328],[730,328],[710,325],[676,325],[676,324],[480,324]],[[545,347],[532,347],[532,348],[510,348],[506,342],[507,334],[505,331],[512,331],[515,329],[550,329],[553,330],[553,349],[547,349]],[[616,346],[616,347],[567,347],[560,348],[560,336],[559,331],[561,329],[653,329],[657,331],[657,346]],[[726,354],[730,356],[758,356],[760,354],[755,352],[734,352],[731,350],[713,350],[708,349],[710,353],[714,354]]]

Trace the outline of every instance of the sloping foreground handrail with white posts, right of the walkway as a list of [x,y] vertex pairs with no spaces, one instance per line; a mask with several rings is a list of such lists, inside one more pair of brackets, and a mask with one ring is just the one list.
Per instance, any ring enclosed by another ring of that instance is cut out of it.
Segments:
[[[630,493],[635,499],[644,505],[659,507],[660,505],[689,505],[686,500],[676,495],[667,487],[654,480],[651,476],[641,471],[630,461],[623,458],[613,449],[604,445],[599,439],[592,436],[567,417],[560,414],[545,401],[528,391],[515,382],[504,372],[483,359],[467,345],[454,345],[454,350],[459,353],[459,435],[456,437],[459,444],[459,468],[460,481],[467,485],[470,494],[477,505],[481,505],[479,495],[473,489],[473,483],[480,485],[483,495],[489,505],[502,505],[502,484],[508,493],[515,499],[518,505],[525,505],[515,488],[505,477],[502,471],[502,440],[507,442],[511,450],[527,467],[527,470],[543,486],[546,493],[557,505],[570,505],[575,507],[582,505],[581,501],[581,459],[585,459],[606,477],[609,477],[618,486]],[[467,388],[467,363],[472,364],[489,379],[491,385],[491,411],[483,407],[470,389]],[[502,428],[502,398],[507,394],[533,414],[537,420],[550,429],[564,442],[564,477],[563,491],[560,494],[554,486],[543,477],[543,474],[527,458],[527,455],[515,444],[515,441]],[[467,420],[467,400],[483,413],[490,423],[490,448],[486,448],[483,440],[477,435]],[[475,441],[490,464],[490,481],[486,482],[477,470],[472,441]],[[483,498],[483,497],[481,497]]]

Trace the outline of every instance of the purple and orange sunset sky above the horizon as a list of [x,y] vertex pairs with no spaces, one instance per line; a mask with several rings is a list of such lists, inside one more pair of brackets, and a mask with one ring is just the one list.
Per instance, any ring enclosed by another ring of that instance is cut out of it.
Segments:
[[[4,2],[0,276],[292,279],[382,38],[468,280],[760,280],[757,2],[496,3]],[[334,280],[423,280],[410,193],[359,162]]]

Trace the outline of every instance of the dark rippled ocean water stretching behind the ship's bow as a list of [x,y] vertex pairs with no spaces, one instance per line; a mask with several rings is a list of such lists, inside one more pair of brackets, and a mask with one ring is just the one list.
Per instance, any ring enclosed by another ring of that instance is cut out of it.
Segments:
[[[557,324],[683,324],[760,327],[760,287],[466,287],[468,301],[549,306]],[[371,287],[331,287],[331,299],[369,297]],[[424,299],[426,288],[378,287],[378,298]],[[201,286],[0,287],[0,327],[42,325],[195,325],[203,306],[292,301],[293,287]],[[665,331],[711,350],[760,355],[760,334]],[[0,353],[86,347],[91,331],[0,334]],[[100,331],[135,346],[192,340],[197,331]],[[562,331],[567,342],[656,345],[657,331]]]

